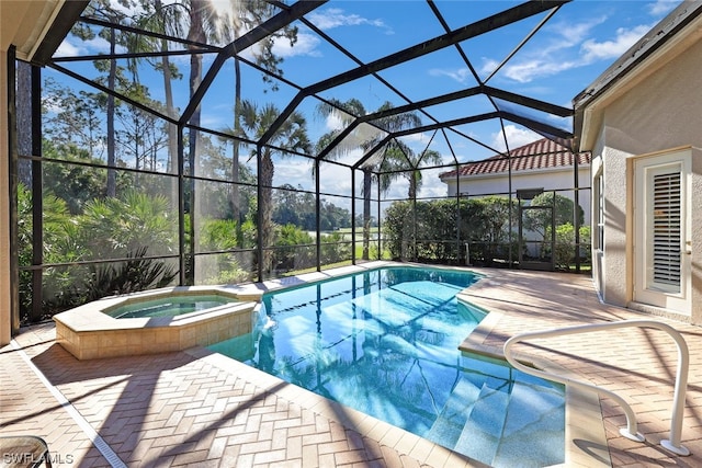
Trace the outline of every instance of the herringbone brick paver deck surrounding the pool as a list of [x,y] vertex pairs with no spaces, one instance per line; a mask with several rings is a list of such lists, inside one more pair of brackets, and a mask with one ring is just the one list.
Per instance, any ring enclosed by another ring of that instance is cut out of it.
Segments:
[[[666,333],[610,330],[520,345],[535,363],[618,392],[646,436],[636,443],[620,435],[626,420],[613,400],[570,398],[566,466],[702,466],[702,327],[603,305],[585,275],[472,270],[485,277],[464,297],[490,315],[469,347],[499,352],[518,333],[630,319],[667,323],[687,342],[688,457],[660,446],[669,437],[677,366]],[[43,437],[54,467],[483,466],[202,347],[78,361],[55,338],[53,322],[44,323],[0,349],[0,435]]]

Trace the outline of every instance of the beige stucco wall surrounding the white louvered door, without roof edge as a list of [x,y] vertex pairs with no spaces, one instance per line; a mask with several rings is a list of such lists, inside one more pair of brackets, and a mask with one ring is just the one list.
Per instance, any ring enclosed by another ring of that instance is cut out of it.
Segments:
[[[633,299],[633,161],[636,157],[692,148],[692,311],[702,323],[702,42],[639,75],[635,85],[609,98],[602,112],[593,160],[601,157],[605,199],[603,258],[596,262],[596,284],[609,304]],[[597,218],[595,216],[593,218]],[[593,226],[595,228],[595,226]],[[599,265],[599,266],[598,266]],[[603,279],[603,281],[602,281]],[[665,313],[665,311],[661,311]]]

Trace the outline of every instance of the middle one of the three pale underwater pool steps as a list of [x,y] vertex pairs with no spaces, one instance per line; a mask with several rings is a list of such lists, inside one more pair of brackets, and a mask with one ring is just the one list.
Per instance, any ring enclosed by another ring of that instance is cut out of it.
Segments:
[[454,450],[491,465],[502,435],[508,403],[509,383],[488,377]]

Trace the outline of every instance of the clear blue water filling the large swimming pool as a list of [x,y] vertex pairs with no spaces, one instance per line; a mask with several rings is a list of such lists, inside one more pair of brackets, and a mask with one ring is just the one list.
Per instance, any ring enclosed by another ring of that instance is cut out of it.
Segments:
[[564,461],[564,388],[461,353],[477,279],[386,267],[263,296],[252,335],[210,346],[496,467]]

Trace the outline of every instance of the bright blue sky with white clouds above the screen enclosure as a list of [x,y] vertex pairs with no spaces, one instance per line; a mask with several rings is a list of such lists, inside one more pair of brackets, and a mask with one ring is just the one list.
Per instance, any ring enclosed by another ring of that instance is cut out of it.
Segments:
[[[539,22],[545,14],[471,38],[461,43],[461,46],[480,79],[490,77],[489,85],[571,107],[573,99],[580,91],[595,81],[679,3],[679,0],[575,0],[562,7],[541,27]],[[434,4],[445,18],[449,27],[457,28],[514,7],[518,2],[444,0],[437,1]],[[216,0],[214,5],[220,12],[228,11],[230,8],[228,0]],[[332,0],[308,13],[306,18],[364,62],[380,59],[444,33],[423,0]],[[498,64],[517,48],[530,31],[534,30],[537,30],[534,37],[519,48],[503,67],[496,70]],[[99,37],[86,43],[69,36],[55,56],[95,54],[106,50],[106,42]],[[298,24],[297,41],[293,46],[285,39],[276,41],[274,53],[283,58],[281,66],[284,71],[283,77],[302,87],[314,84],[358,66],[304,24]],[[256,47],[241,53],[249,59],[253,54],[256,54]],[[212,64],[213,58],[214,56],[205,58],[205,69]],[[180,60],[176,64],[184,78],[176,83],[177,105],[184,109],[188,99],[189,66],[184,57]],[[83,71],[92,66],[86,64],[84,67]],[[92,70],[95,75],[94,69]],[[231,127],[233,70],[233,62],[227,62],[207,91],[203,100],[203,126],[216,129]],[[140,73],[141,79],[150,83],[155,98],[159,99],[159,89],[162,89],[159,75],[151,71],[149,76],[148,70]],[[389,89],[375,78],[364,77],[341,87],[325,90],[320,95],[342,102],[352,98],[359,99],[366,112],[373,112],[386,101],[398,106],[407,103],[405,96],[414,101],[422,100],[476,84],[473,73],[455,47],[382,70],[378,76],[395,85],[396,90]],[[278,85],[278,91],[272,91],[270,85],[261,80],[260,72],[250,67],[244,67],[244,99],[261,105],[270,102],[282,110],[295,96],[297,89],[284,81],[279,82]],[[319,101],[315,99],[305,99],[297,109],[306,117],[308,134],[313,141],[342,125],[335,116],[320,117],[316,112],[318,103]],[[484,98],[471,98],[453,104],[434,106],[428,112],[438,119],[450,119],[491,110]],[[568,119],[558,121],[543,115],[536,115],[536,117],[548,118],[550,123],[559,127],[569,128],[571,125]],[[422,116],[422,121],[429,122],[427,116]],[[503,133],[507,135],[510,148],[541,138],[540,135],[523,126],[509,122],[502,129],[495,119],[466,125],[460,129],[496,151],[506,149]],[[445,163],[455,161],[452,151],[456,155],[458,162],[479,160],[495,155],[494,151],[486,150],[469,139],[450,138],[446,141],[430,133],[406,137],[404,141],[418,153],[427,148],[438,151]],[[346,158],[352,161],[359,156],[356,151],[347,155]],[[343,158],[341,160],[344,160]],[[420,196],[445,195],[446,186],[439,180],[438,174],[450,168],[426,173]],[[332,164],[324,168],[322,172],[322,191],[339,195],[349,193],[351,182],[348,171]],[[276,161],[276,174],[279,178],[276,183],[291,183],[306,190],[314,190],[310,167],[299,160]],[[403,197],[406,191],[407,185],[400,182],[395,184],[388,196]]]

